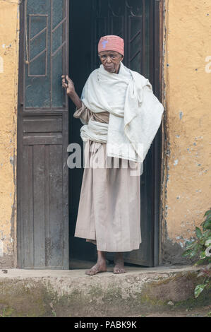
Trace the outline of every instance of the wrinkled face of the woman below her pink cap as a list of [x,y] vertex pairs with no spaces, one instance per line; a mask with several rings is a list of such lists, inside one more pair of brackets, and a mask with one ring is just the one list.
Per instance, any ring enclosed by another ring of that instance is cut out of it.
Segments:
[[121,54],[116,51],[102,51],[98,55],[106,71],[109,71],[109,73],[119,72],[120,61],[123,60]]

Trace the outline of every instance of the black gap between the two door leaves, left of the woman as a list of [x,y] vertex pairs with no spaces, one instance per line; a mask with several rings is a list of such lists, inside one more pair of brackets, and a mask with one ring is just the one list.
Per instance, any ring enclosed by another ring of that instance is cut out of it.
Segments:
[[[92,71],[92,6],[90,1],[70,1],[69,18],[69,75],[73,80],[76,92],[80,96],[83,85]],[[76,107],[73,102],[69,103],[69,142],[80,144],[83,151],[83,141],[80,138],[80,119],[73,118]],[[83,168],[69,170],[69,236],[70,236],[70,266],[73,262],[95,261],[95,245],[88,243],[85,239],[74,237],[80,188],[83,179]],[[77,267],[77,264],[75,265]]]

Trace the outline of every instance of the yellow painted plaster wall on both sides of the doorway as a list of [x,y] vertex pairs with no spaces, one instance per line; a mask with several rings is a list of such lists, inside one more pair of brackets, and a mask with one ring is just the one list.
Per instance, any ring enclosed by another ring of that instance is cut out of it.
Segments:
[[[210,1],[165,1],[164,263],[181,262],[211,206]],[[18,4],[0,0],[0,267],[16,266],[18,38]]]

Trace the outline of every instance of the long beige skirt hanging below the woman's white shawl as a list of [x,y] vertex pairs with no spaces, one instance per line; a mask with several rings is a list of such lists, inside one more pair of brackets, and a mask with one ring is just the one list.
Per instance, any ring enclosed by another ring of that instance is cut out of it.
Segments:
[[100,251],[138,249],[141,243],[140,164],[107,157],[107,143],[89,140],[84,151],[86,161],[75,237],[97,244]]

